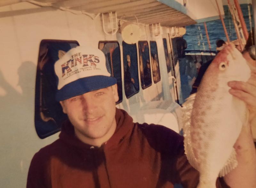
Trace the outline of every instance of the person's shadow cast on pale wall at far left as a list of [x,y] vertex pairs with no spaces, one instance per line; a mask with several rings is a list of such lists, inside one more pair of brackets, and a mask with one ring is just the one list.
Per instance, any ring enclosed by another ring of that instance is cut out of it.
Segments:
[[[18,85],[22,93],[19,93],[4,79],[3,72],[0,71],[0,86],[6,92],[6,95],[0,96],[2,107],[0,109],[0,176],[4,180],[0,183],[0,187],[23,187],[20,182],[27,179],[27,168],[34,154],[31,152],[36,150],[33,140],[30,140],[31,132],[36,134],[34,126],[35,73],[36,65],[32,62],[21,64],[18,68]],[[7,182],[14,179],[15,181]]]

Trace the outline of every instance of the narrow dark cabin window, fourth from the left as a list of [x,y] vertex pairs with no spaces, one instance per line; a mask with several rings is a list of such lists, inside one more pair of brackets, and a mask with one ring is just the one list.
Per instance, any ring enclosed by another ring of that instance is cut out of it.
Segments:
[[149,48],[147,41],[139,41],[140,81],[142,89],[152,85]]

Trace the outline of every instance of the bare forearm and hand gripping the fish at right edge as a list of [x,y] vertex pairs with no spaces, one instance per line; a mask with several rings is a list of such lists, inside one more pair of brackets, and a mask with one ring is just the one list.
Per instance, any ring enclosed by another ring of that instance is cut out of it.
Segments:
[[225,177],[226,183],[232,188],[256,187],[256,150],[252,138],[252,124],[256,123],[256,71],[252,71],[247,82],[230,81],[229,93],[247,104],[249,121],[242,127],[234,148],[238,166]]

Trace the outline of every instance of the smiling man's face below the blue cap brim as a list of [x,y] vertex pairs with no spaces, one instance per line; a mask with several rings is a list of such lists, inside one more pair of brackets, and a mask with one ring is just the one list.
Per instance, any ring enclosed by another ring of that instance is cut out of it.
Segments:
[[117,86],[114,85],[72,97],[60,104],[74,125],[76,136],[92,144],[96,139],[106,142],[115,132],[117,101]]

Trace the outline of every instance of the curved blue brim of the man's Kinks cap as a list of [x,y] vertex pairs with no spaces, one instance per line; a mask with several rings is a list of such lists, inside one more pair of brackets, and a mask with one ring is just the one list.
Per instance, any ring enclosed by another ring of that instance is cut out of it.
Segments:
[[64,101],[71,97],[81,95],[97,89],[113,86],[116,78],[110,76],[91,76],[70,82],[56,92],[56,100]]

